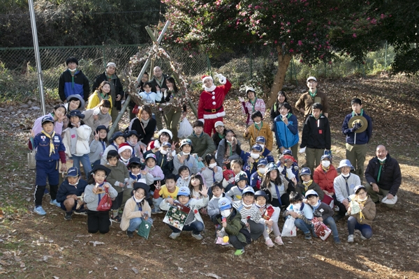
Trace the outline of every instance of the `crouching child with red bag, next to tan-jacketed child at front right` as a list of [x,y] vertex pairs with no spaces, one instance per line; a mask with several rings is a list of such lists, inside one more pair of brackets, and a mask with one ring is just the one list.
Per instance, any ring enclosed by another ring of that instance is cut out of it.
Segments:
[[333,234],[333,241],[336,244],[341,244],[339,239],[339,234],[337,232],[337,227],[335,220],[333,219],[333,214],[335,213],[333,209],[330,208],[328,204],[321,202],[318,198],[318,194],[315,190],[308,190],[305,195],[308,204],[313,209],[313,215],[319,221],[325,223],[325,225],[330,225],[330,229],[332,229]]

